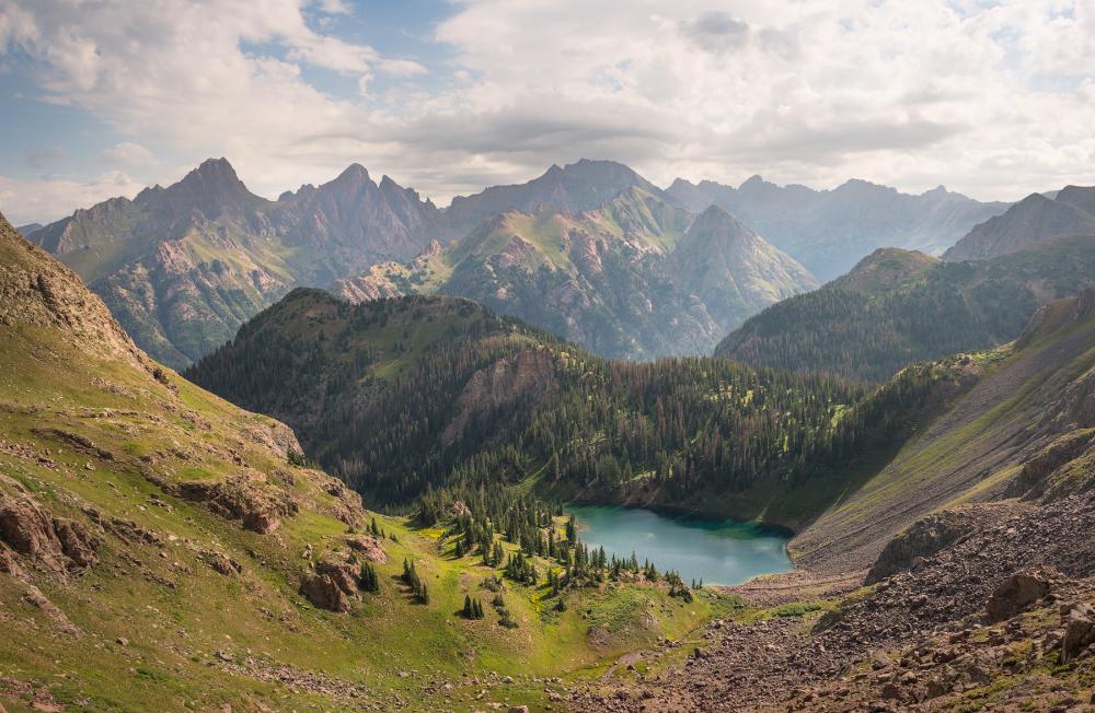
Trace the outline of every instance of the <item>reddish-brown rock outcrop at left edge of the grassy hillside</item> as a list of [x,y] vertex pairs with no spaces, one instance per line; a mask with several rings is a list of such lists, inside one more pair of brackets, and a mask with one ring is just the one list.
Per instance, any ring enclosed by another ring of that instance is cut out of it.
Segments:
[[[0,543],[56,576],[79,574],[99,561],[100,539],[87,526],[54,517],[26,494],[0,495]],[[0,560],[4,571],[19,570],[11,554],[0,554]]]

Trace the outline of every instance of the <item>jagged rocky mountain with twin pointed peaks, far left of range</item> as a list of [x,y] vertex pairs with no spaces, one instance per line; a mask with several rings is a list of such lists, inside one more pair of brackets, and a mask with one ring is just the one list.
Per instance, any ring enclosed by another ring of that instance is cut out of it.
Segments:
[[295,284],[327,284],[407,259],[440,212],[354,165],[278,201],[253,195],[223,159],[181,182],[78,210],[32,235],[70,265],[153,358],[181,369],[230,339]]

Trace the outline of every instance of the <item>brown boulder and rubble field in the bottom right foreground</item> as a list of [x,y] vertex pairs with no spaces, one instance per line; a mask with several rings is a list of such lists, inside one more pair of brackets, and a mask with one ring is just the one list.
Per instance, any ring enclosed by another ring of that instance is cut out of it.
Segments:
[[[831,612],[718,622],[683,665],[589,683],[572,710],[1093,710],[1095,494],[978,507],[971,529]],[[911,562],[910,562],[911,563]],[[798,600],[817,597],[800,576]],[[773,578],[776,597],[795,580]],[[738,587],[753,592],[763,581]],[[823,596],[823,595],[822,595]],[[668,650],[649,653],[657,662]]]

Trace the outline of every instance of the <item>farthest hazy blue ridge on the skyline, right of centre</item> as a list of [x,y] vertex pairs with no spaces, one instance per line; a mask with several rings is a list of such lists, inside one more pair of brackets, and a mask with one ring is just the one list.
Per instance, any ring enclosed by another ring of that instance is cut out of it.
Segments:
[[738,188],[678,178],[666,192],[692,210],[718,206],[733,213],[821,281],[843,274],[879,247],[937,255],[1007,208],[943,186],[912,196],[858,179],[815,190],[777,186],[760,176]]

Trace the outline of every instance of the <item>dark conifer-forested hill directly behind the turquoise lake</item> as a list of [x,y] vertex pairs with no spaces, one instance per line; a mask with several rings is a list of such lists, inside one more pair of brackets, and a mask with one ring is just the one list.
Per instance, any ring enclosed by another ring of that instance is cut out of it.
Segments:
[[350,305],[309,290],[186,375],[286,420],[311,457],[391,507],[430,489],[520,486],[793,527],[952,378],[910,371],[865,399],[827,376],[607,361],[466,300]]

